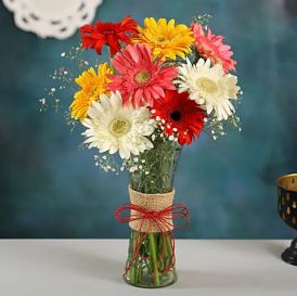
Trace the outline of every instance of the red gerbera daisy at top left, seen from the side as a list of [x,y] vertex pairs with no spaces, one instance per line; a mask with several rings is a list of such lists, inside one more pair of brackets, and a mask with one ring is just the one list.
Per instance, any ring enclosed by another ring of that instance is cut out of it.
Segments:
[[107,44],[112,55],[115,55],[120,50],[119,41],[129,44],[129,34],[138,34],[137,26],[138,23],[130,16],[126,16],[120,23],[96,22],[94,27],[85,25],[80,27],[82,47],[92,48],[101,54],[102,47]]

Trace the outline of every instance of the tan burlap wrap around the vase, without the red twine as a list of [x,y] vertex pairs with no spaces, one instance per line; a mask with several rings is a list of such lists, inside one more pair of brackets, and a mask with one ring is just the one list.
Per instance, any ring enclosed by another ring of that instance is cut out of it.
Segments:
[[[134,191],[129,186],[129,195],[131,204],[148,211],[160,211],[172,206],[175,191],[146,194]],[[131,218],[132,217],[141,217],[141,214],[138,210],[131,209]],[[171,231],[173,229],[171,215],[164,217],[163,220],[158,221],[158,223],[160,227],[158,227],[152,219],[137,219],[134,221],[130,221],[129,226],[131,229],[141,232],[164,232]]]

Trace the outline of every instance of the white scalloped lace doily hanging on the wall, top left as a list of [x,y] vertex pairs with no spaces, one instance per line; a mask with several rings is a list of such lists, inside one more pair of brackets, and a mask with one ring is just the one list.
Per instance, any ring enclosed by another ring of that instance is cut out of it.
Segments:
[[91,23],[103,0],[3,0],[15,25],[39,37],[65,39]]

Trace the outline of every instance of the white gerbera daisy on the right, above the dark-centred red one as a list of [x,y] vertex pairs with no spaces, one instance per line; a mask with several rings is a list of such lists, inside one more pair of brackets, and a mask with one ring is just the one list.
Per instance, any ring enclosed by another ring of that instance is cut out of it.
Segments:
[[211,66],[210,60],[199,59],[192,65],[188,59],[186,64],[179,67],[176,82],[179,85],[179,92],[188,91],[190,99],[205,106],[207,114],[215,111],[218,120],[227,119],[234,112],[229,100],[237,99],[237,77],[224,74],[221,64]]

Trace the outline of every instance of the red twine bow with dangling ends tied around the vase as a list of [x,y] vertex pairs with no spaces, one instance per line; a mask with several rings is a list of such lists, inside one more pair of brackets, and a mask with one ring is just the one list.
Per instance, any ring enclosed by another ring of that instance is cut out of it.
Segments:
[[[131,215],[131,210],[133,213]],[[128,214],[127,214],[128,211]],[[176,263],[176,255],[175,255],[175,237],[172,233],[172,229],[183,229],[189,226],[189,209],[185,205],[183,204],[177,204],[169,206],[165,209],[162,210],[147,210],[143,207],[140,207],[134,204],[124,204],[121,207],[115,210],[114,213],[115,219],[120,222],[120,223],[129,223],[131,221],[137,221],[140,220],[140,228],[138,229],[138,237],[135,240],[134,248],[133,248],[133,254],[132,258],[129,262],[129,265],[126,267],[124,275],[128,273],[130,268],[132,267],[134,260],[139,256],[139,248],[144,242],[144,240],[147,237],[148,233],[152,232],[153,226],[155,226],[158,230],[159,233],[162,234],[162,254],[160,258],[158,258],[157,265],[159,265],[162,258],[164,257],[164,253],[166,249],[166,235],[169,237],[169,243],[171,246],[171,256],[164,268],[164,273],[168,272],[172,267],[175,267]],[[180,219],[185,219],[184,224],[173,224],[173,222],[169,222],[170,220],[180,220]],[[150,227],[146,229],[146,231],[143,231],[143,223],[145,221],[152,221],[150,222]],[[150,259],[150,258],[143,258],[143,259]]]

